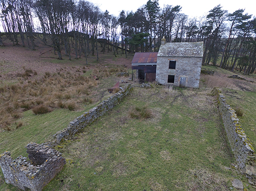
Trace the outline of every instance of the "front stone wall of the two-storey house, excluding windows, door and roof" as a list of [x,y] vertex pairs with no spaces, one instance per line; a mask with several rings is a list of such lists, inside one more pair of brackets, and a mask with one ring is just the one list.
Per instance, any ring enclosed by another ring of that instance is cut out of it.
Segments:
[[[169,69],[169,60],[176,60],[176,68]],[[156,82],[167,85],[180,86],[181,77],[186,78],[186,86],[198,88],[202,58],[196,57],[163,57],[157,56]],[[168,83],[168,75],[174,75],[174,83]]]

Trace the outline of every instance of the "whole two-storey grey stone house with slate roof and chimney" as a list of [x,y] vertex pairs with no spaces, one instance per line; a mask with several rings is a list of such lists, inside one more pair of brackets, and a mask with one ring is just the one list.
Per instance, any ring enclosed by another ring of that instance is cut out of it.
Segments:
[[157,54],[156,82],[179,87],[199,87],[203,42],[165,42]]

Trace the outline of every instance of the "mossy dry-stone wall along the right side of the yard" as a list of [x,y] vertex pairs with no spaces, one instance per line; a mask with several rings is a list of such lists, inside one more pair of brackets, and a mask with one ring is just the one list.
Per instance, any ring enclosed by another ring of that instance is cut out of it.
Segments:
[[250,140],[239,124],[239,119],[235,111],[226,103],[225,97],[218,88],[213,89],[217,96],[219,111],[222,116],[226,134],[238,166],[247,175],[256,175],[254,166],[256,165],[256,155]]

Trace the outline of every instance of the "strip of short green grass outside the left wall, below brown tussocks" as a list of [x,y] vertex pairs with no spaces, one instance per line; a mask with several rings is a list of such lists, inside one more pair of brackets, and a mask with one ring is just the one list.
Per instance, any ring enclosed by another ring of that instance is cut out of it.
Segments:
[[0,133],[0,153],[11,151],[12,158],[26,155],[25,146],[29,142],[41,144],[87,110],[70,112],[67,109],[55,109],[42,115],[35,115],[31,110],[25,111],[21,119],[24,125],[21,128]]

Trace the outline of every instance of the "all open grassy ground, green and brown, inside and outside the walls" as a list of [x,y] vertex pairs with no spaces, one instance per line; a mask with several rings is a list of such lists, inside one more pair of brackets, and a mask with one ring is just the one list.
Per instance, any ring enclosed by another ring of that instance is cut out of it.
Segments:
[[[131,74],[131,55],[102,54],[99,62],[93,58],[84,65],[82,59],[61,61],[47,54],[39,61],[35,55],[32,63],[25,60],[19,69],[19,60],[1,61],[0,153],[27,156],[29,142],[44,142],[111,96],[107,88],[117,81],[130,82],[131,75],[120,73]],[[230,190],[234,178],[254,190],[231,165],[235,159],[211,90],[221,88],[227,102],[242,110],[242,128],[256,148],[256,86],[227,78],[234,74],[228,70],[203,68],[215,74],[201,75],[199,89],[140,88],[131,82],[134,89],[120,105],[55,147],[67,164],[44,191]],[[254,75],[244,78],[255,80]],[[2,171],[0,190],[18,190],[5,183]]]

